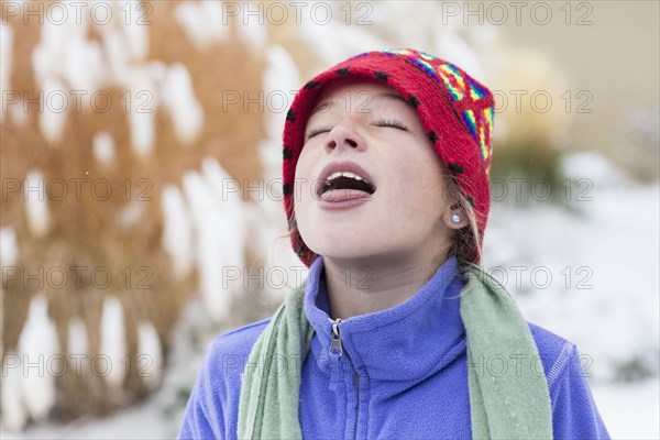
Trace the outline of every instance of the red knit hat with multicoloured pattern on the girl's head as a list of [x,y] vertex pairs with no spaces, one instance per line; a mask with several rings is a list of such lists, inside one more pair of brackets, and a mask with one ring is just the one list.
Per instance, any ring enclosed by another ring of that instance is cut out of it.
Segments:
[[[317,75],[298,91],[284,128],[283,191],[289,228],[294,220],[296,164],[305,143],[307,119],[321,89],[333,79],[349,76],[382,81],[415,108],[433,150],[474,208],[483,242],[491,206],[493,95],[460,67],[410,48],[355,55]],[[317,255],[297,230],[289,232],[296,254],[307,266],[311,265]],[[473,250],[470,260],[480,262],[479,249]]]

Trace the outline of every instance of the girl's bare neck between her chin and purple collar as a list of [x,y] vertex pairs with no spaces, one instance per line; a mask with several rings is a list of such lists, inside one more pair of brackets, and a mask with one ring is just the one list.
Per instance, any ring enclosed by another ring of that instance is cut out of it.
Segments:
[[345,261],[324,257],[330,318],[346,319],[394,307],[415,295],[447,260],[431,257]]

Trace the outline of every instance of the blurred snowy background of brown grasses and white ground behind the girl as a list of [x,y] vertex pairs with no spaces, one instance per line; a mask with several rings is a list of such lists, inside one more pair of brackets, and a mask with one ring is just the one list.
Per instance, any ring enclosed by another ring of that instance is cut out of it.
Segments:
[[414,47],[495,94],[483,265],[660,438],[659,3],[1,1],[3,438],[173,438],[208,343],[289,249],[295,91]]

